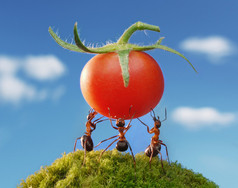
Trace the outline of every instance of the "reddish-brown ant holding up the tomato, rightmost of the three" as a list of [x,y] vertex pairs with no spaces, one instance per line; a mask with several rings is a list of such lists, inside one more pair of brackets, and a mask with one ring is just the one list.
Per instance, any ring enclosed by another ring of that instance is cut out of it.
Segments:
[[[152,112],[153,112],[153,114],[152,114]],[[143,125],[145,125],[146,127],[147,127],[147,132],[149,133],[149,134],[153,134],[154,133],[154,135],[152,136],[152,138],[151,138],[151,143],[150,143],[150,145],[145,149],[145,154],[148,156],[148,157],[150,157],[150,168],[151,168],[151,161],[152,161],[152,157],[155,157],[155,156],[157,156],[158,154],[160,154],[160,156],[161,156],[161,166],[162,166],[162,168],[164,168],[163,167],[163,162],[162,162],[162,154],[161,154],[161,152],[160,152],[160,150],[161,150],[161,145],[163,145],[163,146],[165,146],[165,148],[166,148],[166,154],[167,154],[167,158],[168,158],[168,162],[169,162],[169,164],[170,164],[170,161],[169,161],[169,154],[168,154],[168,149],[167,149],[167,146],[163,143],[163,141],[162,140],[159,140],[159,135],[160,135],[160,127],[161,127],[161,122],[163,122],[163,121],[165,121],[166,119],[167,119],[167,110],[166,110],[166,108],[165,108],[165,119],[164,120],[162,120],[162,121],[160,121],[160,118],[159,118],[159,116],[155,116],[155,112],[154,112],[154,110],[153,109],[151,109],[151,111],[150,111],[150,115],[151,115],[151,117],[153,118],[153,120],[154,120],[154,127],[152,128],[152,129],[150,129],[149,128],[149,126],[148,125],[146,125],[144,122],[142,122],[139,118],[137,118]]]

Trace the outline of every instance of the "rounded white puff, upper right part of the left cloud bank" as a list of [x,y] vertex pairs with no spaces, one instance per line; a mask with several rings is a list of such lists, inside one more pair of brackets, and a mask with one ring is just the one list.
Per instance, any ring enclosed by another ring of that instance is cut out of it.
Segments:
[[53,80],[65,73],[63,63],[55,56],[30,56],[25,59],[24,70],[37,80]]

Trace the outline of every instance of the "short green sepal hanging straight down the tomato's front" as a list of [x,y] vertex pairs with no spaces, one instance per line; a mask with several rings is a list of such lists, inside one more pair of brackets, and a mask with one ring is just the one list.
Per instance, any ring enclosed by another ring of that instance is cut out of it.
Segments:
[[122,71],[122,78],[123,78],[123,82],[124,82],[124,86],[127,87],[129,85],[129,53],[130,53],[130,49],[127,50],[121,50],[118,51],[118,55],[119,55],[119,62],[120,62],[120,66],[121,66],[121,71]]

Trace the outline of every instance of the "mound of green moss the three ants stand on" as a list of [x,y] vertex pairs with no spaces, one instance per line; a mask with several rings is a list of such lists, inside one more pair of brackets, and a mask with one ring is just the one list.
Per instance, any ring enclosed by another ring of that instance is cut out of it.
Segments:
[[82,166],[84,152],[63,154],[51,166],[41,168],[38,172],[22,180],[18,187],[218,187],[215,183],[194,173],[175,162],[171,166],[166,161],[164,171],[160,160],[152,160],[144,154],[136,155],[136,175],[132,157],[129,153],[117,150],[103,154],[101,151],[87,152],[86,165]]

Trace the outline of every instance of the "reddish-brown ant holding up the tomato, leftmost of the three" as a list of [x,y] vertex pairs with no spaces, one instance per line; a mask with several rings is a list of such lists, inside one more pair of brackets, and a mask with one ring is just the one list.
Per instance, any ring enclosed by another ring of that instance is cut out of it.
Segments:
[[91,137],[92,132],[96,129],[96,124],[100,123],[102,121],[108,120],[108,119],[102,119],[104,116],[92,121],[98,112],[96,112],[94,109],[90,109],[87,115],[87,122],[86,122],[86,132],[83,136],[77,138],[74,143],[74,152],[76,149],[77,141],[80,139],[81,145],[84,149],[84,160],[83,165],[85,164],[85,158],[86,158],[86,151],[92,151],[93,150],[93,140]]

